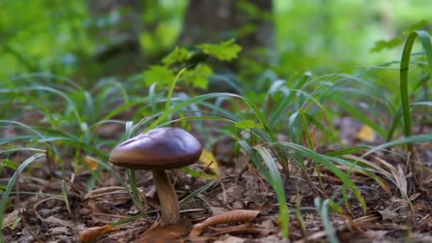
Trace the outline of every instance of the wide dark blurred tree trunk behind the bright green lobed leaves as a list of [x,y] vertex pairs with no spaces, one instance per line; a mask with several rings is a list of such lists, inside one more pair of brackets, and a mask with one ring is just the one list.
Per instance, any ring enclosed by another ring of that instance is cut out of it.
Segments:
[[271,0],[190,0],[178,43],[189,46],[235,38],[242,55],[250,56],[258,48],[269,54],[274,48],[272,11]]

